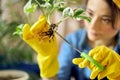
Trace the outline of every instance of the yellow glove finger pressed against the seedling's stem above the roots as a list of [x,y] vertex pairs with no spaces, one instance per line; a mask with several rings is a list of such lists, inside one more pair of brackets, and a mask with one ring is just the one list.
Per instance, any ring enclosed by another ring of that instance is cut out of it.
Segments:
[[36,23],[34,23],[30,29],[30,31],[35,34],[47,30],[48,30],[47,20],[44,15],[41,15],[39,20]]

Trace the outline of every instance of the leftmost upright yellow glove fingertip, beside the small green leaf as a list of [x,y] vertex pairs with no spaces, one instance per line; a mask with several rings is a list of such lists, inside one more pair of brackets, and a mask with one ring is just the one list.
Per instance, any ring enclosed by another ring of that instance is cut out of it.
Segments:
[[30,33],[30,26],[29,24],[25,24],[23,29],[22,29],[22,34],[23,34],[23,40],[28,40],[32,37],[31,33]]

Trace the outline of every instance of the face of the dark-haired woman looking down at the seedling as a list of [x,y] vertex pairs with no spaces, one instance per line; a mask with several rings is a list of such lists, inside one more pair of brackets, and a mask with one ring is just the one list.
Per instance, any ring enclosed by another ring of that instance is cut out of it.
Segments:
[[111,10],[105,0],[88,0],[86,14],[91,17],[91,22],[85,22],[88,39],[110,40],[118,32],[119,23],[112,27]]

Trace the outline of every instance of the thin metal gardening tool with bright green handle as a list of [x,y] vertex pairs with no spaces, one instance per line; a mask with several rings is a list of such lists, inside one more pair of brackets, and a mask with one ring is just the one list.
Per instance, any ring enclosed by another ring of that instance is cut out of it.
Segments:
[[[55,31],[55,30],[54,30]],[[95,66],[97,66],[99,68],[100,71],[104,70],[104,67],[98,63],[96,60],[94,60],[92,57],[90,57],[89,55],[87,55],[85,52],[81,52],[80,50],[78,50],[75,46],[73,46],[69,41],[67,41],[63,36],[61,36],[57,31],[55,31],[55,33],[61,37],[66,43],[68,43],[74,50],[76,50],[78,53],[81,54],[81,57],[89,60],[90,62],[92,62]]]

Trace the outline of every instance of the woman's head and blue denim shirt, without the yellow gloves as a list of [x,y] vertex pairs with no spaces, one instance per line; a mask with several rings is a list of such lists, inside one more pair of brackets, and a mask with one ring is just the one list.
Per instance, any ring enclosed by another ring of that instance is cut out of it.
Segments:
[[[118,38],[120,12],[113,1],[88,0],[86,14],[91,17],[91,22],[85,23],[85,29],[68,35],[67,40],[82,52],[89,53],[89,50],[96,46],[106,45],[120,54],[120,40]],[[72,64],[71,61],[74,57],[80,57],[79,53],[77,54],[76,51],[67,46],[67,43],[63,43],[59,58],[59,76],[63,77],[61,80],[69,80],[73,72],[76,80],[85,80],[89,77],[87,69],[78,69]]]

